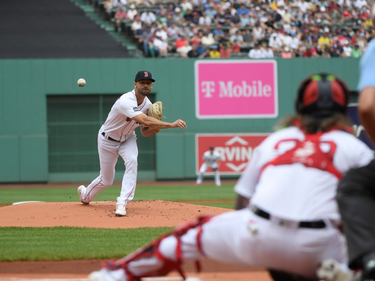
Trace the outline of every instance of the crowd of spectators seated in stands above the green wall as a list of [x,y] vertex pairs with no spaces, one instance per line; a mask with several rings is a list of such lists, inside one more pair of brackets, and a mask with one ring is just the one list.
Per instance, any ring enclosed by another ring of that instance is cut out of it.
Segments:
[[366,0],[96,2],[146,57],[358,58],[373,37]]

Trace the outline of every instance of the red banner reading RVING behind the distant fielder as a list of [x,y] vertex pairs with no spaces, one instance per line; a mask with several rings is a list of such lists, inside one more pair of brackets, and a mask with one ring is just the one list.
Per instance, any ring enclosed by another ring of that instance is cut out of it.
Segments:
[[[203,164],[203,154],[210,146],[220,154],[220,174],[239,175],[243,172],[254,149],[268,134],[205,134],[195,135],[195,172]],[[213,174],[207,170],[207,174]]]

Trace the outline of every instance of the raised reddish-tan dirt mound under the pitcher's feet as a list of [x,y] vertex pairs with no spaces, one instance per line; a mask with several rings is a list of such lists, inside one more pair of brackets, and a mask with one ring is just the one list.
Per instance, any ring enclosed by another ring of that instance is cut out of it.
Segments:
[[177,226],[198,215],[217,215],[230,209],[191,205],[164,200],[132,201],[126,216],[116,217],[116,202],[38,202],[5,206],[0,210],[0,226],[86,226],[136,228]]

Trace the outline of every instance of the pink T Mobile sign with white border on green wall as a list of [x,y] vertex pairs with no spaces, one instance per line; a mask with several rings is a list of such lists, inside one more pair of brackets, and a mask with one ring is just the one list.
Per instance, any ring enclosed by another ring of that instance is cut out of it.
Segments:
[[195,114],[198,119],[278,116],[274,60],[196,60]]

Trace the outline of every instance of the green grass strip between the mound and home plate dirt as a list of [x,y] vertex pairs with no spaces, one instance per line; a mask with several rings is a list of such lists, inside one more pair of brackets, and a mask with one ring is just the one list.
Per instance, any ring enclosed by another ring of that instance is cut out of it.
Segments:
[[0,227],[0,261],[120,258],[171,229]]

